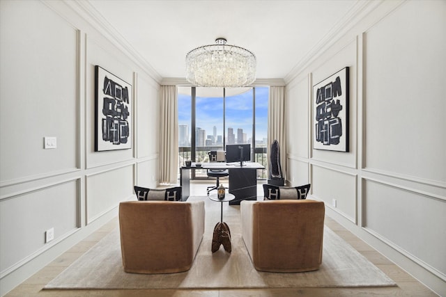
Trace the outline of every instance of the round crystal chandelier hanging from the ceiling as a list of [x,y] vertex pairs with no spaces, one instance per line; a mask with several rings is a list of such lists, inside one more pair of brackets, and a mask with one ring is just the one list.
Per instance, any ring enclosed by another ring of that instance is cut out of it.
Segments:
[[248,86],[256,79],[256,56],[217,38],[215,45],[204,45],[187,53],[186,79],[201,87]]

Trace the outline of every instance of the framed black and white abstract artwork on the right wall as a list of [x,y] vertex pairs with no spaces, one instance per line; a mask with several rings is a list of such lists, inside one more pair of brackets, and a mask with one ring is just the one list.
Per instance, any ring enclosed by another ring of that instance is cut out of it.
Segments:
[[348,152],[348,67],[313,86],[313,148]]

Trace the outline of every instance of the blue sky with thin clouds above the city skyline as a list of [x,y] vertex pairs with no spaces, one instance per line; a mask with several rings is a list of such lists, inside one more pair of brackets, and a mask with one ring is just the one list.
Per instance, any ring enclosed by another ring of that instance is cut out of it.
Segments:
[[[267,137],[268,125],[268,87],[256,88],[256,139]],[[178,124],[188,125],[190,129],[190,95],[178,94]],[[197,127],[213,134],[223,134],[223,99],[222,97],[197,97]],[[247,138],[252,136],[252,89],[235,96],[226,96],[226,134],[232,127],[237,137],[237,129],[242,128]],[[227,135],[226,135],[227,136]]]

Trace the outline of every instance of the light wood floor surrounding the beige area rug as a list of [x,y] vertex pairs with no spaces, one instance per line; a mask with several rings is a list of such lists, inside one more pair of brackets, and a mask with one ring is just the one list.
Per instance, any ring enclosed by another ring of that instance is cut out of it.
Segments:
[[[191,184],[191,195],[206,195],[206,186],[209,184]],[[261,193],[259,185],[259,193]],[[325,225],[336,232],[341,238],[348,242],[370,262],[375,264],[386,273],[398,287],[362,287],[362,288],[294,288],[294,289],[214,289],[214,290],[191,290],[191,289],[113,289],[113,290],[43,290],[47,282],[56,277],[66,267],[70,266],[84,252],[98,243],[109,232],[118,226],[117,218],[101,227],[98,231],[77,243],[63,255],[42,268],[38,273],[17,286],[6,294],[6,297],[45,297],[45,296],[107,296],[107,297],[140,297],[140,296],[206,296],[206,297],[247,297],[247,296],[437,296],[415,278],[403,271],[399,266],[393,264],[386,257],[368,246],[364,241],[358,239],[351,232],[336,223],[329,217],[325,218]]]

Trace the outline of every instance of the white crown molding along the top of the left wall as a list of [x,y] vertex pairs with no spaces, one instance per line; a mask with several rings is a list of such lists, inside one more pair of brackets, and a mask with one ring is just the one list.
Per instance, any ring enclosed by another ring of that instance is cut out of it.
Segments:
[[[101,35],[103,35],[109,42],[118,47],[123,53],[128,56],[134,63],[139,65],[146,74],[160,83],[162,77],[159,73],[152,67],[145,58],[143,58],[127,39],[121,33],[119,33],[112,24],[107,22],[107,20],[102,17],[100,12],[94,8],[94,6],[89,3],[89,1],[80,0],[63,0],[67,6],[77,13],[82,19],[89,23],[94,29],[96,29]],[[116,40],[121,40],[122,42],[116,42]]]

